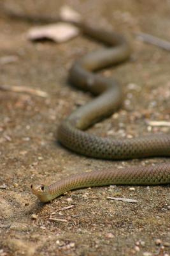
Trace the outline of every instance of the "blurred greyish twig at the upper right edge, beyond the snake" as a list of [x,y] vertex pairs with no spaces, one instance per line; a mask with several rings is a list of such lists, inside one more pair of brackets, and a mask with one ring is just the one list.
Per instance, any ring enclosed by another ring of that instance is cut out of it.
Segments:
[[166,51],[170,51],[170,42],[166,40],[162,40],[156,36],[152,36],[146,33],[136,33],[136,36],[138,40],[141,40],[149,44],[157,45],[158,47]]

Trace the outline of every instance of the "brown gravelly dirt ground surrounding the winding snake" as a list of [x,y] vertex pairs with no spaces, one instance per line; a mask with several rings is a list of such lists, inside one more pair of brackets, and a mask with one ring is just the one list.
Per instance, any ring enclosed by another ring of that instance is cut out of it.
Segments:
[[[124,84],[124,106],[89,132],[122,138],[170,131],[146,124],[147,120],[169,121],[170,53],[134,35],[143,31],[170,40],[170,1],[1,1],[0,85],[27,86],[48,97],[0,90],[0,256],[170,255],[169,186],[79,189],[49,204],[41,204],[31,194],[32,182],[50,184],[71,173],[169,159],[102,161],[61,147],[57,126],[91,97],[67,84],[69,67],[76,58],[103,46],[83,36],[64,44],[29,42],[25,32],[33,24],[10,19],[4,3],[38,15],[55,15],[67,4],[93,24],[124,33],[131,41],[131,60],[104,70],[106,76]],[[13,61],[3,61],[5,56],[13,56]],[[138,202],[113,201],[107,196]],[[50,220],[52,213],[63,221]]]

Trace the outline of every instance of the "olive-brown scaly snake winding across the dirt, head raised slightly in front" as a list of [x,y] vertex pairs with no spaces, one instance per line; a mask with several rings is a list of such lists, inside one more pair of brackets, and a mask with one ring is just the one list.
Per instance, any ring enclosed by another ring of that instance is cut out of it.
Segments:
[[[131,46],[124,36],[87,22],[72,22],[82,33],[102,42],[106,47],[90,52],[74,61],[69,71],[69,82],[96,97],[74,110],[58,127],[57,140],[69,150],[98,159],[138,159],[169,157],[170,134],[150,134],[137,138],[104,138],[86,130],[99,120],[115,113],[124,100],[122,86],[99,70],[127,61]],[[148,166],[113,168],[113,170],[76,173],[46,186],[32,184],[32,193],[41,202],[49,202],[71,189],[94,186],[160,185],[170,183],[170,163]]]

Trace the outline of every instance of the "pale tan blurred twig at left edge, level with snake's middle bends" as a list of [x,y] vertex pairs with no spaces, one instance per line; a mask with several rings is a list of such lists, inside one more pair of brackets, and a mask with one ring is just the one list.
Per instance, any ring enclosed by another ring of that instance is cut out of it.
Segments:
[[29,88],[26,86],[10,86],[7,84],[3,84],[3,85],[0,85],[0,90],[11,91],[11,92],[24,92],[24,93],[29,93],[29,94],[36,95],[43,98],[48,97],[48,93],[43,92],[41,90]]

